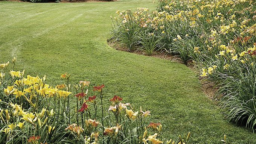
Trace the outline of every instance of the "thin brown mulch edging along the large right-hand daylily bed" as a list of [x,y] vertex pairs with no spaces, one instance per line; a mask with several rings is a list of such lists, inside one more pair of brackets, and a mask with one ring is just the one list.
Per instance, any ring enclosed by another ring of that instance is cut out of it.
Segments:
[[[125,47],[121,47],[118,44],[108,42],[108,45],[110,45],[110,47],[112,47],[116,50],[120,50],[120,51],[124,51],[124,52],[130,52],[128,49],[126,49]],[[135,51],[135,52],[130,52],[130,53],[135,53],[137,55],[147,56],[146,53],[144,53],[142,51]],[[149,57],[166,59],[166,60],[169,60],[169,61],[174,61],[174,62],[178,62],[180,64],[183,64],[183,62],[181,61],[180,58],[178,58],[177,56],[173,56],[173,55],[171,55],[169,53],[166,53],[166,52],[154,52]],[[192,62],[188,62],[187,67],[189,67],[191,70],[198,73],[197,68],[195,68],[195,66]],[[200,76],[198,76],[198,79],[200,80],[200,83],[202,84],[201,90],[204,92],[204,94],[206,94],[209,99],[215,100],[214,99],[215,93],[218,90],[218,88],[215,87],[215,84],[213,82],[203,81],[203,77],[200,77]]]

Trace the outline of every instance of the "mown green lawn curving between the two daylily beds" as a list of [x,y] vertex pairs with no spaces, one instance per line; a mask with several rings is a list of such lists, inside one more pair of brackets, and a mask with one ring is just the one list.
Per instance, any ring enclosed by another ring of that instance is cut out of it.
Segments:
[[197,74],[185,65],[108,46],[110,15],[118,9],[155,5],[152,0],[0,2],[0,62],[16,56],[17,70],[46,74],[50,84],[61,83],[65,72],[72,74],[74,83],[104,83],[105,101],[119,95],[124,102],[150,110],[151,121],[163,124],[166,138],[190,131],[193,144],[221,144],[224,134],[232,144],[255,143],[250,130],[228,123],[201,91]]

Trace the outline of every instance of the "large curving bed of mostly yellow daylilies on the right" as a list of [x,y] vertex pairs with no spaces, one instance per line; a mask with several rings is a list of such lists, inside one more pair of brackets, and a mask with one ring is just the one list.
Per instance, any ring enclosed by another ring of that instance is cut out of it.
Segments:
[[111,42],[148,55],[165,51],[219,87],[225,116],[256,127],[255,0],[158,0],[157,10],[117,11]]

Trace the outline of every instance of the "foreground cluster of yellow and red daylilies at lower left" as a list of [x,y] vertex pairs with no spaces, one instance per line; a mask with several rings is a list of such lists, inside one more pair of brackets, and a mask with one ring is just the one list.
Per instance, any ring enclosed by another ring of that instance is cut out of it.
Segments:
[[117,95],[105,111],[105,85],[89,91],[90,82],[72,85],[65,73],[63,83],[50,86],[46,76],[14,71],[15,61],[12,68],[9,62],[0,64],[1,144],[186,144],[190,138],[190,133],[163,138],[162,124],[149,123],[150,111]]

